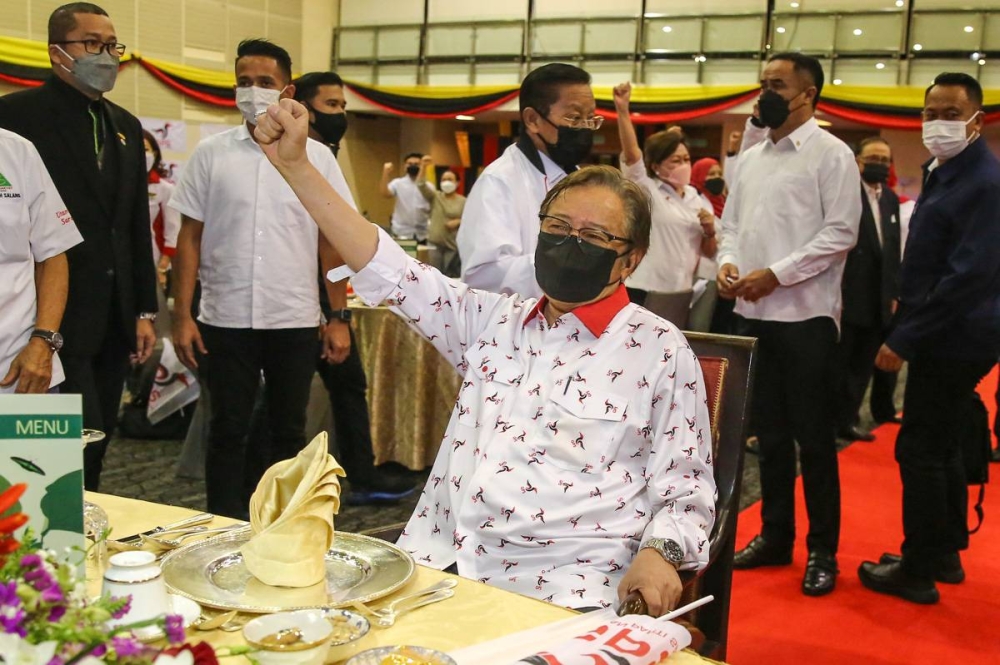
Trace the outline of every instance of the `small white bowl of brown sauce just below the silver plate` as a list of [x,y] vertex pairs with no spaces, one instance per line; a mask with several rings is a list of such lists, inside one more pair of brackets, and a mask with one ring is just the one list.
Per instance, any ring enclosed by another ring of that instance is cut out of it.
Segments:
[[[286,645],[265,645],[261,642],[268,635],[289,628],[302,631],[302,640]],[[266,614],[243,626],[243,639],[258,649],[253,657],[261,665],[322,665],[332,635],[333,626],[323,616],[322,610]]]

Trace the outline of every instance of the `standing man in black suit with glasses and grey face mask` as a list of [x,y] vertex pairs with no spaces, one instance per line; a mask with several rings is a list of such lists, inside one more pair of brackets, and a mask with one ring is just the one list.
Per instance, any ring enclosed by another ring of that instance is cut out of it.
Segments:
[[138,119],[104,98],[125,53],[107,12],[63,5],[48,32],[52,76],[0,98],[0,127],[35,144],[84,239],[66,253],[61,390],[82,394],[83,426],[108,434],[84,451],[84,484],[97,490],[129,354],[144,362],[156,342],[146,153]]

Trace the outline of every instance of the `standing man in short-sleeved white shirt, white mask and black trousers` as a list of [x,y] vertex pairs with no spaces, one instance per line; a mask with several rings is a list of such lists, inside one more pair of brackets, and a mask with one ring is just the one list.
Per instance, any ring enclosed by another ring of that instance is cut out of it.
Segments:
[[[260,39],[242,42],[236,101],[246,123],[202,141],[170,199],[184,215],[174,258],[174,346],[185,365],[202,365],[212,396],[208,510],[233,517],[247,515],[247,486],[256,479],[245,478],[246,471],[292,457],[305,443],[309,385],[320,353],[317,253],[324,267],[340,262],[319,241],[315,223],[252,134],[257,113],[294,94],[291,78],[283,48]],[[353,205],[330,150],[312,140],[307,150]],[[198,324],[191,316],[196,278],[202,289]],[[261,372],[272,454],[261,460],[262,453],[251,450],[248,466],[245,440]]]

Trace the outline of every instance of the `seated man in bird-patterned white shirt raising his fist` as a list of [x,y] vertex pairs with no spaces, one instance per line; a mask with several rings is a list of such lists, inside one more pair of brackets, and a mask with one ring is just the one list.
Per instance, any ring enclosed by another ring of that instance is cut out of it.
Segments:
[[257,125],[355,291],[388,299],[465,377],[399,544],[561,605],[608,607],[637,590],[654,615],[674,607],[677,570],[707,562],[715,484],[698,361],[622,285],[649,245],[646,194],[610,167],[560,181],[540,214],[545,296],[522,300],[407,257],[309,164],[307,131],[290,100]]

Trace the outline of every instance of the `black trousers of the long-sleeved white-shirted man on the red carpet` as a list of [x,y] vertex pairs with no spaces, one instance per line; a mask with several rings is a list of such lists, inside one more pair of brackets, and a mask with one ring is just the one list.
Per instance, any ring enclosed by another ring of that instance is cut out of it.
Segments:
[[809,515],[809,551],[835,554],[840,539],[840,474],[832,385],[833,319],[738,319],[758,339],[753,422],[760,442],[761,534],[778,547],[795,542],[795,444]]

